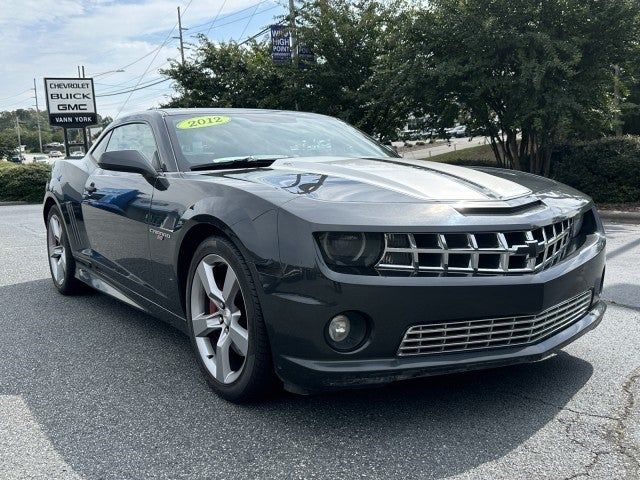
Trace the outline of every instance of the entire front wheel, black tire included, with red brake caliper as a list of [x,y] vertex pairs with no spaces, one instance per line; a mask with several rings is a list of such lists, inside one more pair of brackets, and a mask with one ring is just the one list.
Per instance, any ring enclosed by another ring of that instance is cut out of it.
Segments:
[[196,250],[187,277],[187,320],[198,365],[223,398],[244,402],[274,385],[262,310],[249,268],[221,237]]

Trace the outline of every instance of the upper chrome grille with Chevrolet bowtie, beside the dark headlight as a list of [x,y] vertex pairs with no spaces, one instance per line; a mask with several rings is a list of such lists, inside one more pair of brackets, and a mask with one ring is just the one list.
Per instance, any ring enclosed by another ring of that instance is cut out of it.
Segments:
[[573,221],[512,232],[387,233],[376,268],[440,275],[535,273],[565,257]]

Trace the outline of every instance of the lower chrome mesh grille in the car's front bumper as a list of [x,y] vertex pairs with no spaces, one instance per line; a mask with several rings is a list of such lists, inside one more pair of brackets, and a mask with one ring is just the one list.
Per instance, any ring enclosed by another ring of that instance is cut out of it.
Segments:
[[416,325],[407,330],[399,356],[489,350],[529,345],[568,327],[591,305],[591,291],[538,315]]

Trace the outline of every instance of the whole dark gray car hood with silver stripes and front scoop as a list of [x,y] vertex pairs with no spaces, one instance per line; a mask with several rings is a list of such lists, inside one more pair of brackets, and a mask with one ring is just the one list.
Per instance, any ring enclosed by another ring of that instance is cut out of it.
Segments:
[[588,197],[566,185],[524,172],[393,157],[287,158],[269,167],[187,176],[216,188],[232,187],[226,193],[209,190],[213,197],[228,198],[224,205],[229,208],[244,205],[242,195],[247,194],[266,201],[252,218],[269,209],[267,205],[275,205],[318,228],[334,224],[422,228],[490,221],[527,229],[574,215],[590,204]]

